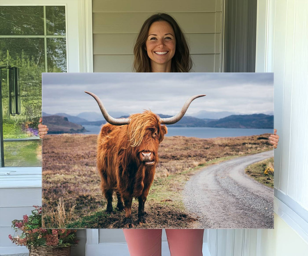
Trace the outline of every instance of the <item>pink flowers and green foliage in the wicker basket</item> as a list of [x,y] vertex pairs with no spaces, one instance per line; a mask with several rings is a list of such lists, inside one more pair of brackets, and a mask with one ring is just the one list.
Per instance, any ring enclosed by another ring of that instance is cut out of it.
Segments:
[[57,248],[75,246],[76,230],[69,229],[43,229],[42,228],[42,207],[33,205],[32,215],[24,215],[22,220],[12,221],[12,228],[15,234],[22,231],[22,234],[13,237],[9,235],[10,240],[20,246],[26,246],[29,250],[33,246],[53,246]]

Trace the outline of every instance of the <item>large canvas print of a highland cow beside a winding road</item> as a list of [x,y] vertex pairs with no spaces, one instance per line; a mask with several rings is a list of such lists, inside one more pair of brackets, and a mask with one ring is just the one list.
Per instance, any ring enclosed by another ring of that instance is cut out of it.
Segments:
[[43,73],[42,91],[44,227],[274,227],[272,73]]

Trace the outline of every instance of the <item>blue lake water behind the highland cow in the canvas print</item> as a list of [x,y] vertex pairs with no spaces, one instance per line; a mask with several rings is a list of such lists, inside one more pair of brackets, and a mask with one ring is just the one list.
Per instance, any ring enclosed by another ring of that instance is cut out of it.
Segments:
[[[83,125],[88,132],[84,134],[98,134],[100,126]],[[167,126],[168,127],[168,126]],[[247,128],[211,128],[211,127],[168,127],[166,136],[186,136],[197,138],[238,137],[273,133],[273,129],[247,129]]]

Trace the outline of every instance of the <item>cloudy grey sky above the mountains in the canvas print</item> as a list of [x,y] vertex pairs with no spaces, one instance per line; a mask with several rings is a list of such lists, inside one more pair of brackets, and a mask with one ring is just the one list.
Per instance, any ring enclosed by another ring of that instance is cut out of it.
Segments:
[[175,115],[193,95],[187,115],[202,110],[241,114],[274,112],[273,73],[43,73],[43,112],[100,113],[95,93],[107,111],[128,114],[151,109]]

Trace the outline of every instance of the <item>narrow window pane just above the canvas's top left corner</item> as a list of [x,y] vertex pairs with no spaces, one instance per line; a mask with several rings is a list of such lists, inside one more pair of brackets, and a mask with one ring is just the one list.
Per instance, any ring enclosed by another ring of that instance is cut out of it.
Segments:
[[47,71],[67,71],[65,38],[47,38]]

